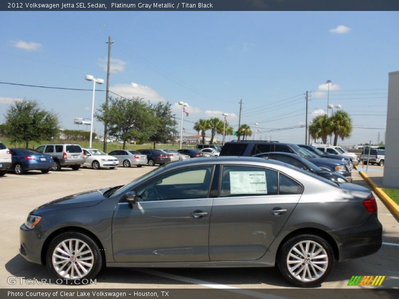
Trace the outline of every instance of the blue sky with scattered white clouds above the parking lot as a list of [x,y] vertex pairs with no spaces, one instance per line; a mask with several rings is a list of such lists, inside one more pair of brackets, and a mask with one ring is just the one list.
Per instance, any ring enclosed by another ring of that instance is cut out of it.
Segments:
[[[185,101],[190,122],[226,112],[234,128],[242,98],[241,123],[282,142],[304,142],[304,128],[268,131],[304,124],[306,90],[309,120],[326,111],[326,80],[330,103],[355,128],[381,128],[354,129],[341,144],[384,140],[388,73],[399,70],[398,12],[2,11],[0,26],[1,82],[90,89],[86,74],[106,79],[110,34],[111,91],[169,101],[178,117]],[[78,129],[73,119],[90,117],[91,96],[0,84],[0,123],[13,99],[26,98],[57,113],[61,128]],[[96,107],[104,99],[97,92]]]

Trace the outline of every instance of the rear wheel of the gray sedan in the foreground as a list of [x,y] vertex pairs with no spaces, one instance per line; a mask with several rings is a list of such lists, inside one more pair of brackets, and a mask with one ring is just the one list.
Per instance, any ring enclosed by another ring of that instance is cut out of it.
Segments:
[[[304,256],[306,249],[316,253],[320,250],[316,256],[319,258],[312,259],[309,256],[311,253],[308,253],[307,257]],[[334,262],[334,253],[330,244],[323,238],[310,234],[287,240],[277,256],[277,267],[283,277],[291,284],[302,288],[320,286],[333,269]]]

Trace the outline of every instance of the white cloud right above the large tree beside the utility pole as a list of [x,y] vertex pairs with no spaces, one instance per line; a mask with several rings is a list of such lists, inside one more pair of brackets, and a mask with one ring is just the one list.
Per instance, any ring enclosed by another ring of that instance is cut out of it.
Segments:
[[131,84],[118,84],[112,86],[110,87],[110,91],[128,99],[131,99],[133,97],[139,97],[143,98],[145,101],[155,103],[165,101],[165,99],[151,87],[140,85],[134,82],[132,82]]

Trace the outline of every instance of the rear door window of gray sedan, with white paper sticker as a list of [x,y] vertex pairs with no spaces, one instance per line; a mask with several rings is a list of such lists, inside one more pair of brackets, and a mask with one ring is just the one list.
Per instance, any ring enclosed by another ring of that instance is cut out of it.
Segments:
[[252,166],[223,166],[220,196],[276,195],[277,171]]

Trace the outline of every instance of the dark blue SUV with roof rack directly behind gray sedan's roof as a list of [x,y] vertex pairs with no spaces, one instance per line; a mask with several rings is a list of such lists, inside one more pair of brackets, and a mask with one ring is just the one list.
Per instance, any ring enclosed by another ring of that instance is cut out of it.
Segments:
[[220,156],[253,156],[258,153],[272,151],[296,153],[310,160],[323,170],[339,171],[348,181],[352,181],[352,173],[345,161],[321,158],[294,144],[279,143],[276,141],[232,141],[224,144]]

